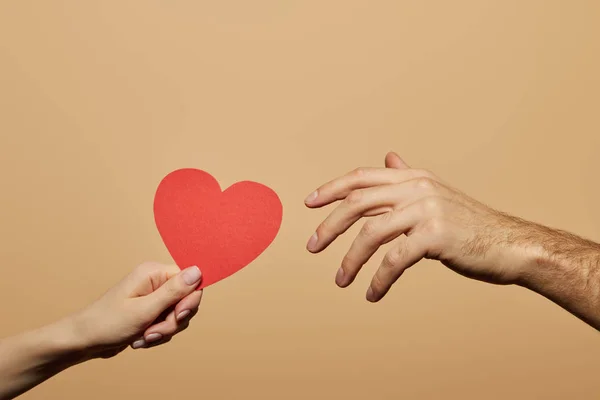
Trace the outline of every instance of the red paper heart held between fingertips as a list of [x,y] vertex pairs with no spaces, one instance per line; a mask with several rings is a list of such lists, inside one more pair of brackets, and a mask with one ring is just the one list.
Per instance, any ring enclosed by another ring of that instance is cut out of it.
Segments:
[[207,172],[180,169],[160,182],[154,220],[180,269],[196,265],[202,289],[238,272],[273,242],[283,216],[277,194],[260,183],[225,191]]

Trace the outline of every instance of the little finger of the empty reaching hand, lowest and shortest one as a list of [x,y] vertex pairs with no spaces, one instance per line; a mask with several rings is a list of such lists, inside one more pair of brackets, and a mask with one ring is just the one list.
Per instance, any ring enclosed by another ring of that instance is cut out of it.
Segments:
[[426,239],[417,234],[398,240],[398,245],[385,255],[375,272],[367,290],[367,300],[373,303],[381,300],[407,268],[427,255],[426,243]]

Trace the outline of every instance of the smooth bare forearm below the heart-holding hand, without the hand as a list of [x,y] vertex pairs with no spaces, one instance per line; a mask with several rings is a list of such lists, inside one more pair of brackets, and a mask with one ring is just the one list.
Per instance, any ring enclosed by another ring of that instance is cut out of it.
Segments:
[[83,346],[68,319],[3,339],[0,400],[13,399],[83,360]]

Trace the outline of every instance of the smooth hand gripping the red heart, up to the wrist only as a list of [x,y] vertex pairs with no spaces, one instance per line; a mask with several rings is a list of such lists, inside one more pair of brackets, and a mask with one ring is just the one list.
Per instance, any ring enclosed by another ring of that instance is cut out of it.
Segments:
[[186,329],[198,312],[198,267],[138,266],[100,299],[73,316],[92,357],[111,357],[127,346],[148,348],[167,343]]

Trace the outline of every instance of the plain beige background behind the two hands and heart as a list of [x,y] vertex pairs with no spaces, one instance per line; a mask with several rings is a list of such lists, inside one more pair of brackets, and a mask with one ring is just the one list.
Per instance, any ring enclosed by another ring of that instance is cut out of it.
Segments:
[[[304,197],[396,150],[474,197],[600,239],[597,1],[3,1],[0,334],[145,260],[173,169],[284,204],[264,255],[167,346],[25,399],[597,399],[597,333],[545,299],[422,262],[380,304],[304,250]],[[85,396],[85,397],[84,397]]]

